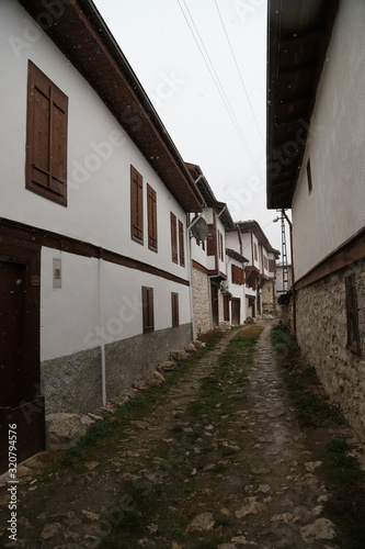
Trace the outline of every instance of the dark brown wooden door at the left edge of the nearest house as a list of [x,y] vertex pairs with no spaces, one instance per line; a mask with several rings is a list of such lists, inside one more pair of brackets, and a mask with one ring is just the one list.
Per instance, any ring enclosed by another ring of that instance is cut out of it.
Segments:
[[39,251],[0,243],[0,473],[10,424],[18,462],[45,447],[39,389]]

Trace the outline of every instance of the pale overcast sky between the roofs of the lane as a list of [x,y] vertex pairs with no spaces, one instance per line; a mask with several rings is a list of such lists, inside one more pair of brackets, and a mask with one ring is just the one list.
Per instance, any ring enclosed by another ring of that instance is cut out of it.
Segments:
[[185,161],[235,221],[266,210],[266,0],[94,0]]

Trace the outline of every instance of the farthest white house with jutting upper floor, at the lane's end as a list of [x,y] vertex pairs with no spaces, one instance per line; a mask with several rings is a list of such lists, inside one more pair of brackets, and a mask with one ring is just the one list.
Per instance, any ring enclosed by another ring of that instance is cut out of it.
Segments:
[[240,221],[237,224],[242,240],[242,251],[248,258],[246,273],[247,316],[276,314],[275,260],[280,251],[272,247],[256,221]]

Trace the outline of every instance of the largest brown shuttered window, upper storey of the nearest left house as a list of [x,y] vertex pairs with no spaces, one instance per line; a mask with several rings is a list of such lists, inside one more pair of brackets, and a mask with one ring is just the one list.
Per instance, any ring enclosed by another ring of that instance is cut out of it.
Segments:
[[25,188],[67,206],[67,96],[28,61]]

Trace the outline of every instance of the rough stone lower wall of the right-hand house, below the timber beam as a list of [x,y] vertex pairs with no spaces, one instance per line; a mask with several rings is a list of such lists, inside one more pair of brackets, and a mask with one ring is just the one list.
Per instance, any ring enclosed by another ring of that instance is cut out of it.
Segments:
[[365,435],[365,360],[347,347],[344,277],[355,273],[361,352],[365,334],[365,259],[297,292],[297,339],[316,367],[331,400],[349,423]]

